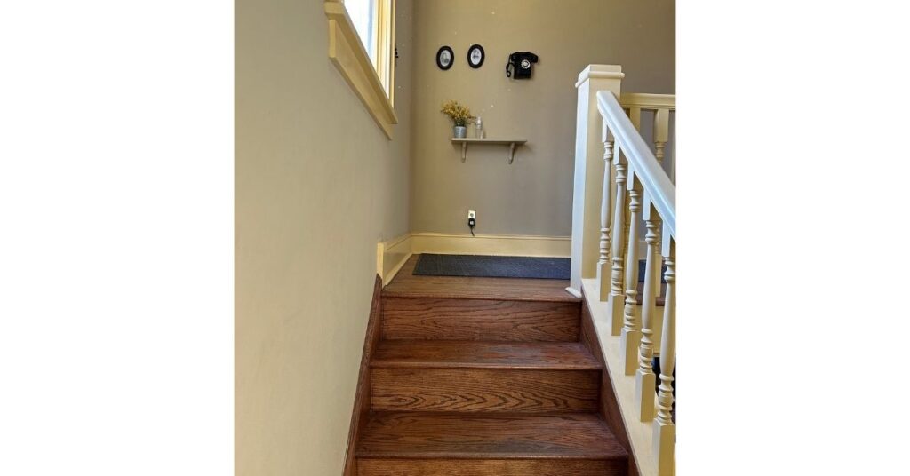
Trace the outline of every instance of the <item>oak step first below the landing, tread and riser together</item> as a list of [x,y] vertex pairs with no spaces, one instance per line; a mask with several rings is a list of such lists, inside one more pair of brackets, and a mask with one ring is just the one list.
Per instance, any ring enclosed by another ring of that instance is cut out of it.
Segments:
[[601,366],[578,342],[387,340],[370,368],[373,410],[597,411],[600,396]]

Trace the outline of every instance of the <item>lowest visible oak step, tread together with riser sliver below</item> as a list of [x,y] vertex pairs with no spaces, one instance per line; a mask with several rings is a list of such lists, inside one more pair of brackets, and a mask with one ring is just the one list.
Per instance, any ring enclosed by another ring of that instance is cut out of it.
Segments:
[[373,412],[360,475],[624,475],[628,454],[595,413]]

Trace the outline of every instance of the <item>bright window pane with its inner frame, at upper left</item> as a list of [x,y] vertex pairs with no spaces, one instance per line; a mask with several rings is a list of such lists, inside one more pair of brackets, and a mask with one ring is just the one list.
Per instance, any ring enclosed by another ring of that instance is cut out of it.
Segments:
[[395,0],[344,0],[344,5],[391,101],[395,68]]

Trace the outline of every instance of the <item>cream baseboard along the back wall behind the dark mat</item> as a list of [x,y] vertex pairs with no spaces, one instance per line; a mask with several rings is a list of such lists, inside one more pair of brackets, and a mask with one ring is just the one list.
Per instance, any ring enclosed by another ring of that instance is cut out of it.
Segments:
[[571,237],[411,233],[411,249],[440,255],[538,256],[569,258]]

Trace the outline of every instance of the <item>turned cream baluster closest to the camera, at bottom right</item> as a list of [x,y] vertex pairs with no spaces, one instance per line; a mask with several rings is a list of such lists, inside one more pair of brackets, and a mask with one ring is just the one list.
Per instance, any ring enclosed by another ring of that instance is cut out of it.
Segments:
[[673,444],[676,425],[672,420],[673,365],[676,361],[676,241],[668,228],[663,229],[663,257],[667,270],[663,279],[667,289],[663,299],[663,341],[661,345],[661,386],[658,389],[657,416],[653,422],[652,451],[657,456],[657,474],[672,476]]

